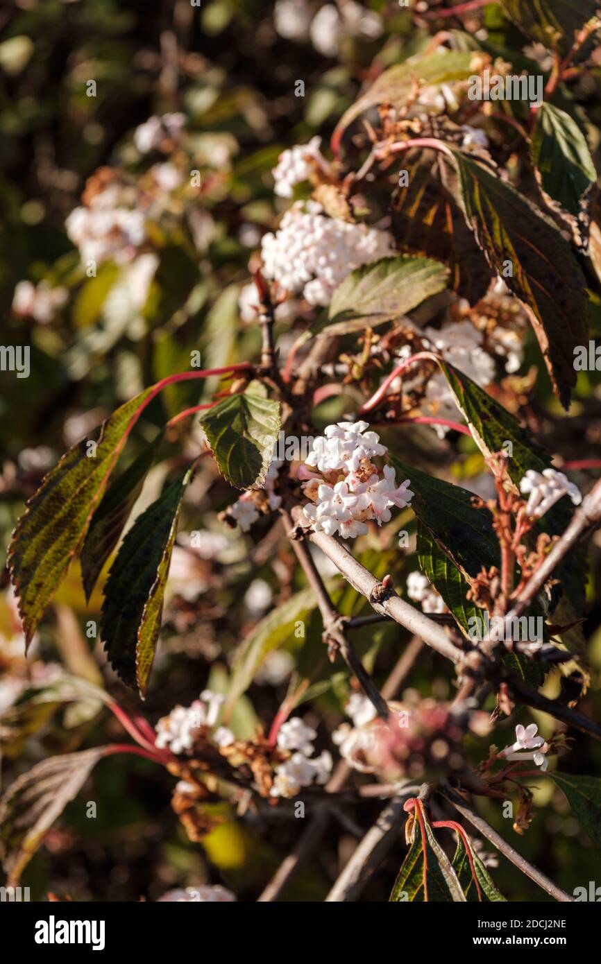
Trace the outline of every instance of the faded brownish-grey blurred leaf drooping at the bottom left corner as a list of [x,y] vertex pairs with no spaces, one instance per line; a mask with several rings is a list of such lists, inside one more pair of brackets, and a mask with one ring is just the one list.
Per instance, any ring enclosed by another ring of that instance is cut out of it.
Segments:
[[50,757],[23,773],[6,791],[0,800],[0,856],[11,886],[106,752],[105,746],[97,746]]

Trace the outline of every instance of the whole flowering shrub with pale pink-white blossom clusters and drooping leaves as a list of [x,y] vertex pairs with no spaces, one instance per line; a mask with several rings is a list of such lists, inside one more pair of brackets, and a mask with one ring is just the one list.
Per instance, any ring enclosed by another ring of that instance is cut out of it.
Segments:
[[[38,6],[0,43],[25,126]],[[601,20],[530,6],[176,4],[150,50],[68,5],[85,149],[39,118],[24,202],[14,142],[0,275],[9,886],[567,901],[592,873]]]

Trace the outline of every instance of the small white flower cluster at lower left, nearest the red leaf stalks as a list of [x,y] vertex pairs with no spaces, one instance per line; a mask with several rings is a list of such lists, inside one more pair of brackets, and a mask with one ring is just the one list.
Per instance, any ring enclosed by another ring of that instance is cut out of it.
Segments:
[[200,700],[189,707],[176,707],[156,724],[156,747],[169,749],[176,755],[192,751],[198,736],[213,730],[211,739],[216,746],[229,746],[234,736],[225,726],[214,729],[225,696],[205,689]]

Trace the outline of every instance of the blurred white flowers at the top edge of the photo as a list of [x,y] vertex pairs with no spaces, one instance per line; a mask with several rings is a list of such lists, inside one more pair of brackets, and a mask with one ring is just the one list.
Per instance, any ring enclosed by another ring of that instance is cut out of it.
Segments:
[[374,39],[382,33],[380,16],[355,0],[345,0],[340,8],[326,3],[315,15],[308,0],[277,0],[274,22],[280,37],[311,39],[324,57],[336,57],[344,36]]

